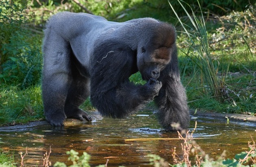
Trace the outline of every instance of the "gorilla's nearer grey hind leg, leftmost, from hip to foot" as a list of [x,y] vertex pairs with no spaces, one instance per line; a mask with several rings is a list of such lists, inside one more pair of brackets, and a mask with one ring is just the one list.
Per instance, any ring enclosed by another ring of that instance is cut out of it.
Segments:
[[43,107],[46,120],[52,126],[63,126],[68,89],[72,83],[70,64],[71,48],[67,41],[50,27],[45,30],[42,74]]

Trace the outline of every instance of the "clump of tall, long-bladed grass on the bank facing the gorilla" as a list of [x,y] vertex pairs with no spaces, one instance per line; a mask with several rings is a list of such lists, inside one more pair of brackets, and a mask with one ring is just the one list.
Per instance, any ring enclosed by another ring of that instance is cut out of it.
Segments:
[[[204,91],[210,91],[214,97],[219,97],[222,93],[221,88],[223,88],[225,84],[225,77],[218,76],[219,62],[216,64],[216,62],[213,61],[213,56],[210,52],[210,47],[207,40],[206,23],[204,21],[200,3],[197,0],[201,14],[200,16],[197,16],[189,4],[187,5],[190,7],[191,12],[186,10],[186,8],[181,3],[181,0],[178,0],[178,2],[184,9],[184,12],[187,14],[187,17],[189,18],[189,21],[192,25],[188,26],[187,24],[184,24],[176,13],[174,7],[169,2],[171,9],[174,11],[178,21],[184,29],[184,33],[189,37],[187,43],[190,47],[185,54],[189,56],[189,58],[193,61],[193,64],[199,68],[201,81],[200,84],[202,84],[202,86],[206,86]],[[191,13],[191,15],[189,13]],[[225,75],[227,72],[228,68],[222,74]]]

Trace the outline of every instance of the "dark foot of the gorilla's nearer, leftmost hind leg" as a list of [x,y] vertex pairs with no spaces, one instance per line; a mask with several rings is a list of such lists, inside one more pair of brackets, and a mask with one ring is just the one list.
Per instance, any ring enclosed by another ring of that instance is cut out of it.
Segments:
[[46,114],[46,120],[52,126],[64,126],[63,122],[65,119],[66,119],[66,116],[64,113]]

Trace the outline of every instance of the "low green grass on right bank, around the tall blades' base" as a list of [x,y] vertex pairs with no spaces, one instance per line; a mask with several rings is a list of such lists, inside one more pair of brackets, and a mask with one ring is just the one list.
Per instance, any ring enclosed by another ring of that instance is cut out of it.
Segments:
[[[213,98],[210,94],[204,92],[205,87],[198,87],[197,83],[190,83],[187,86],[187,96],[189,105],[194,109],[204,111],[215,111],[225,113],[255,113],[255,99],[251,97],[254,94],[252,84],[245,84],[248,81],[253,81],[252,75],[241,75],[238,77],[230,77],[226,80],[226,84],[232,87],[227,88],[227,94],[219,101]],[[253,81],[255,84],[255,81]]]

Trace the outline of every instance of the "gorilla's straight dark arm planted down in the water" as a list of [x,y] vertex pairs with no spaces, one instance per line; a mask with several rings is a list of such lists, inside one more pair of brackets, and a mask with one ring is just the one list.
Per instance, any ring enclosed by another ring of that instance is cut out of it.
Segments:
[[163,83],[156,96],[159,122],[169,130],[186,129],[189,126],[189,108],[185,89],[180,82],[177,51],[174,51],[171,62],[161,72],[158,80]]

